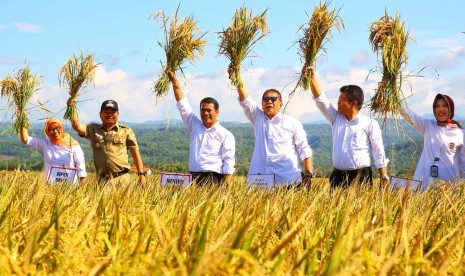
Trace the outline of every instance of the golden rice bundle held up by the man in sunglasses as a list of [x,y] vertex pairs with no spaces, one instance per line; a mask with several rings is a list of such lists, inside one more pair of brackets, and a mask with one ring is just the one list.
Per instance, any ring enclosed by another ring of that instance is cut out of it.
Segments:
[[242,61],[252,52],[254,45],[268,34],[266,22],[267,9],[257,16],[246,7],[240,7],[234,13],[230,26],[219,33],[219,54],[229,60],[229,79],[234,86],[242,86],[240,69]]

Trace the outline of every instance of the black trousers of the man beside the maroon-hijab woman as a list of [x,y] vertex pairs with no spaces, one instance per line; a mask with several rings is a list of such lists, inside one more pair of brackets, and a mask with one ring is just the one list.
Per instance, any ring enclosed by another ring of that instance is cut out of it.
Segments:
[[373,172],[371,167],[365,167],[358,170],[338,170],[333,169],[329,176],[331,188],[343,187],[347,188],[352,184],[366,183],[373,185]]

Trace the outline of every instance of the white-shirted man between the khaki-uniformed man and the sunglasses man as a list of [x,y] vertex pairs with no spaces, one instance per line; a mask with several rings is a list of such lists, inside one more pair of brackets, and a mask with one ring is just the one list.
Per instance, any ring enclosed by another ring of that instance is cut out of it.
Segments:
[[200,119],[185,97],[176,74],[168,71],[173,85],[176,107],[190,135],[189,170],[199,185],[231,184],[234,173],[236,141],[217,120],[218,102],[205,98],[200,102]]

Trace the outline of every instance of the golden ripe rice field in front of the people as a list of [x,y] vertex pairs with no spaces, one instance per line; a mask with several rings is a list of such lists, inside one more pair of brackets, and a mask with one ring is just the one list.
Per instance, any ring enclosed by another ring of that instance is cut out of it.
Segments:
[[424,193],[45,185],[0,172],[0,274],[465,274],[463,183]]

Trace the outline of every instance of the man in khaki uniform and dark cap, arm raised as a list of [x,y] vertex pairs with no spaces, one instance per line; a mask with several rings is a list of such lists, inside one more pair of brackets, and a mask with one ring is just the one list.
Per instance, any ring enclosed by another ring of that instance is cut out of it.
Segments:
[[[68,105],[76,104],[76,100],[70,98]],[[144,166],[139,153],[134,131],[123,124],[118,123],[118,103],[106,100],[100,108],[102,124],[81,124],[79,119],[71,121],[73,129],[81,136],[89,139],[94,154],[94,165],[99,182],[117,180],[129,181],[129,157],[131,152],[136,165],[139,181],[146,184]]]

